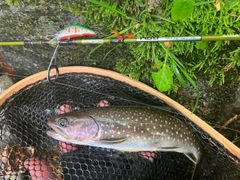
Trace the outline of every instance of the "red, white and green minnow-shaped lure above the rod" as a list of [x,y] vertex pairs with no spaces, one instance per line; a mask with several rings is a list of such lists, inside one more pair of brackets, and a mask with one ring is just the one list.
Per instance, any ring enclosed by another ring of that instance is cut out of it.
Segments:
[[96,33],[79,24],[72,24],[64,28],[63,30],[59,31],[57,34],[55,34],[55,40],[57,41],[63,41],[67,39],[75,39],[80,38],[83,36],[95,36]]

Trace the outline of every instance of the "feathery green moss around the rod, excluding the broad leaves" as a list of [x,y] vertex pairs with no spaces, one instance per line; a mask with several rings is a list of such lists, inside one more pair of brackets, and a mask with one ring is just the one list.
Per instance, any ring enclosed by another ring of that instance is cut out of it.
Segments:
[[[83,15],[87,24],[103,24],[104,33],[111,29],[126,30],[137,37],[191,36],[237,34],[240,21],[238,0],[222,2],[217,11],[214,2],[196,1],[191,17],[175,22],[170,10],[173,1],[128,0],[103,1],[125,13],[121,16],[91,2],[69,3],[67,8],[74,15]],[[97,12],[97,13],[96,13]],[[112,21],[112,19],[114,19]],[[198,71],[210,77],[209,83],[224,82],[225,74],[239,66],[238,42],[217,41],[207,43],[174,42],[169,50],[181,59],[189,74]],[[156,60],[164,61],[165,54],[159,43],[139,43],[127,46],[131,59],[118,59],[117,70],[135,79],[151,80],[151,71]],[[169,63],[169,62],[167,62]]]

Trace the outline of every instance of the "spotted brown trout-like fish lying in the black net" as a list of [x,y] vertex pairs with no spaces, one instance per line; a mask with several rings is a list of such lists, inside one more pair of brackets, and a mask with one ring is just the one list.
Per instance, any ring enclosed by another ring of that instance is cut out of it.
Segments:
[[119,151],[162,151],[185,154],[193,163],[192,179],[202,147],[180,119],[156,107],[108,106],[88,108],[51,118],[47,135],[78,145]]

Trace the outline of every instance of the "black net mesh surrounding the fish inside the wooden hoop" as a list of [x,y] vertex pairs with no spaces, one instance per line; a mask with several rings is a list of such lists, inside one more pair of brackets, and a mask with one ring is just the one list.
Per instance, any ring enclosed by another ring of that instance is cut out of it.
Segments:
[[47,136],[54,115],[106,105],[153,105],[196,133],[204,161],[194,179],[240,179],[239,159],[158,98],[110,77],[90,73],[43,79],[8,98],[0,109],[0,179],[190,179],[193,163],[181,153],[119,152],[58,142]]

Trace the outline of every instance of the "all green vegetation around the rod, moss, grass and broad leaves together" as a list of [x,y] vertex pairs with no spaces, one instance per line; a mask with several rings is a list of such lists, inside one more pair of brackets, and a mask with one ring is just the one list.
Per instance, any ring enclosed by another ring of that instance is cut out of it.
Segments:
[[[239,34],[238,0],[59,0],[59,3],[73,15],[83,16],[86,26],[102,24],[103,34],[110,30],[133,33],[138,38]],[[162,92],[186,87],[186,80],[197,90],[193,79],[199,71],[210,77],[209,84],[216,80],[222,84],[225,75],[240,66],[236,41],[124,46],[131,57],[116,59],[116,69],[134,79],[153,82]]]

